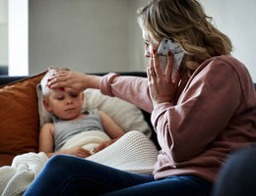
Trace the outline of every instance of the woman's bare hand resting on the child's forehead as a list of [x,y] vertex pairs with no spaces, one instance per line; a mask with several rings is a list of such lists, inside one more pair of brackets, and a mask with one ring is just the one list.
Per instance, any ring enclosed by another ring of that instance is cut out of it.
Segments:
[[81,92],[86,88],[99,88],[100,76],[77,73],[73,71],[59,71],[48,80],[50,88],[65,88],[65,91]]

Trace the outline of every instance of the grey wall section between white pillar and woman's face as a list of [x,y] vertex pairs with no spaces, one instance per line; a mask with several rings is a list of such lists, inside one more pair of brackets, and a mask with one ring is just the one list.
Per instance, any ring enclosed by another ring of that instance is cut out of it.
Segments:
[[145,71],[136,10],[146,0],[30,1],[30,74],[49,66]]

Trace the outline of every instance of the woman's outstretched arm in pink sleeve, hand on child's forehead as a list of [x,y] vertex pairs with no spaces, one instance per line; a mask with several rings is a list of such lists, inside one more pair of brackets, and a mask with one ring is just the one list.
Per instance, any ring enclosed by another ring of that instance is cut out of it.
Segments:
[[153,110],[150,98],[148,79],[138,76],[120,76],[108,73],[104,76],[59,71],[49,78],[50,88],[64,87],[65,91],[81,92],[86,88],[99,88],[100,92],[126,100],[151,113]]

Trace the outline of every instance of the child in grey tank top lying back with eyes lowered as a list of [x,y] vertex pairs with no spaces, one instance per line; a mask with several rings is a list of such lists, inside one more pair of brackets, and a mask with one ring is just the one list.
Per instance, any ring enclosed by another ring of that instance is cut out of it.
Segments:
[[102,141],[93,153],[105,148],[124,134],[124,131],[103,112],[93,110],[82,113],[84,103],[83,92],[68,92],[65,88],[50,89],[48,78],[58,69],[50,68],[41,79],[43,106],[53,115],[53,123],[42,125],[39,133],[39,151],[48,157],[55,154],[69,154],[82,158],[89,157],[92,152],[80,146],[61,150],[65,142],[75,134],[92,129],[105,132],[111,140]]

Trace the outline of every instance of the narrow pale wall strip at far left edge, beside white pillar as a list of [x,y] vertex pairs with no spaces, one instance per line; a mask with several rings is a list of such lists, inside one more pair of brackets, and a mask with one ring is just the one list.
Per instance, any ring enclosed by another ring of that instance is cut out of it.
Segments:
[[8,2],[0,0],[0,66],[8,65]]

